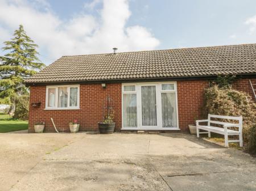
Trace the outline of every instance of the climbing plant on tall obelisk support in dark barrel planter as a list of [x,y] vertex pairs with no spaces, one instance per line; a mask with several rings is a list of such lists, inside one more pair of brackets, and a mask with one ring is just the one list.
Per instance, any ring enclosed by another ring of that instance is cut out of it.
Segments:
[[101,134],[112,134],[115,129],[115,122],[113,121],[114,110],[112,107],[112,100],[109,96],[106,99],[106,103],[104,103],[103,116],[102,122],[98,122],[98,129]]

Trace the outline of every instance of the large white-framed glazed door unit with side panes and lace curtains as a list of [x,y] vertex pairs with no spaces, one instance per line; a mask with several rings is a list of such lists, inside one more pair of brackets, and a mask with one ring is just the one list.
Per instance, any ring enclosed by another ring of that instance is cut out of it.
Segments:
[[179,130],[177,83],[123,83],[122,129]]

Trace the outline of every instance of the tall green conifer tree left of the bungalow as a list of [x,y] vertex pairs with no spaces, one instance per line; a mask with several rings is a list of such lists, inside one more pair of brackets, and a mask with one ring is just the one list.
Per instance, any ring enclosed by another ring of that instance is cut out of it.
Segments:
[[28,94],[24,79],[31,77],[45,65],[37,57],[38,45],[26,35],[23,26],[14,31],[14,38],[4,42],[7,51],[0,56],[0,104],[10,104],[15,109],[16,97]]

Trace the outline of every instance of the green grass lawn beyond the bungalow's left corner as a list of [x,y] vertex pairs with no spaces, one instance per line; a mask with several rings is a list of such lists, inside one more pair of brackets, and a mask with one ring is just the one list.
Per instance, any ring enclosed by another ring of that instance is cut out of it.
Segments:
[[9,118],[9,114],[0,114],[0,133],[10,131],[26,130],[28,122]]

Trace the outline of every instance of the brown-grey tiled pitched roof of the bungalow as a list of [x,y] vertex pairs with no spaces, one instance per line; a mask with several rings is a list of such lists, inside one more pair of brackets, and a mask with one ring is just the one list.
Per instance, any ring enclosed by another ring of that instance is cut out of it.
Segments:
[[256,73],[256,44],[63,56],[27,83]]

